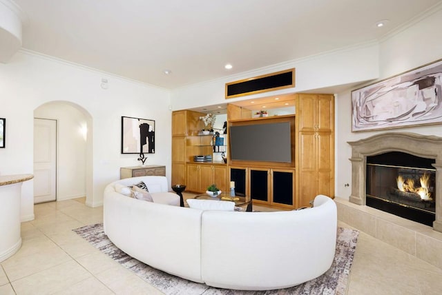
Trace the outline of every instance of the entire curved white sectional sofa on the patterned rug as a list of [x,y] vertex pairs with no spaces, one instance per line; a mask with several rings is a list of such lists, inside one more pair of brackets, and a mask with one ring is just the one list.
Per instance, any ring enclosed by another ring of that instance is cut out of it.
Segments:
[[[131,185],[144,176],[115,183]],[[162,176],[156,176],[162,177]],[[121,250],[164,272],[227,289],[299,285],[332,265],[336,204],[285,212],[202,211],[104,192],[104,230]],[[150,190],[150,188],[149,188]]]

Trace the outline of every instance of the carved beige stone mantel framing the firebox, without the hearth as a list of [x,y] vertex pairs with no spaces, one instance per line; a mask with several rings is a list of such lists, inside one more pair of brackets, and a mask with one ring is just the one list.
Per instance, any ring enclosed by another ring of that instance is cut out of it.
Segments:
[[386,152],[405,152],[414,156],[435,159],[436,168],[436,220],[433,229],[442,232],[442,137],[407,132],[386,132],[347,142],[352,146],[352,194],[349,201],[365,205],[365,164],[367,156]]

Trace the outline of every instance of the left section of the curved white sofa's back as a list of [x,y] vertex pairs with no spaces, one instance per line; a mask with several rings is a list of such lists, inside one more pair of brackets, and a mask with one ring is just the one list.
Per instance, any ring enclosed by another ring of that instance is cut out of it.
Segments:
[[128,255],[169,274],[204,283],[201,278],[202,211],[141,201],[115,192],[115,183],[132,185],[140,179],[123,179],[106,186],[104,232]]

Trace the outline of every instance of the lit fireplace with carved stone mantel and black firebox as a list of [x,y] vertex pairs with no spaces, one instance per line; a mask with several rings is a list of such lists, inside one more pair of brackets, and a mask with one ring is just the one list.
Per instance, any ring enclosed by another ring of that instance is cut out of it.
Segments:
[[[412,216],[416,215],[416,211],[424,212],[423,221],[418,222],[432,225],[434,230],[442,232],[441,137],[386,132],[367,139],[349,142],[349,145],[352,146],[352,158],[350,159],[352,161],[352,194],[349,197],[350,202],[372,207],[380,206],[378,204],[383,204],[384,207],[397,205],[395,209],[403,207],[414,210],[407,213]],[[393,154],[391,154],[392,152]],[[399,160],[409,160],[411,165],[403,165],[398,159],[393,160],[394,156],[398,156]],[[383,161],[384,163],[381,163]],[[420,163],[416,164],[416,162]],[[376,169],[372,169],[372,166],[375,166]],[[391,175],[385,176],[387,173]],[[400,175],[403,178],[402,180],[398,179]],[[430,181],[427,185],[421,185],[420,179],[424,175]],[[381,183],[374,184],[373,177],[374,180],[376,178],[381,180]],[[412,179],[412,181],[407,181],[407,179]],[[405,183],[405,186],[410,186],[413,182],[415,188],[427,186],[426,189],[430,196],[422,198],[420,192],[402,191],[401,189],[404,187],[398,187],[398,182],[402,185]],[[378,192],[379,190],[383,190],[383,192]],[[399,198],[403,199],[397,202]],[[377,205],[373,205],[373,203],[377,203]],[[388,204],[385,205],[385,203]],[[401,211],[403,208],[398,210]],[[390,213],[396,214],[394,212]],[[409,216],[403,217],[409,218]],[[413,218],[409,219],[414,220]]]

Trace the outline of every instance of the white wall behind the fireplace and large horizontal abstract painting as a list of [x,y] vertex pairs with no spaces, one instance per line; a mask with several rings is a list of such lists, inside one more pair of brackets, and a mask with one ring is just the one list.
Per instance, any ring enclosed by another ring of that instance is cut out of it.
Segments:
[[[442,58],[442,39],[437,32],[442,28],[442,10],[425,17],[414,26],[387,37],[379,46],[379,79],[400,74]],[[362,86],[362,85],[361,85]],[[359,87],[358,87],[359,88]],[[336,99],[336,196],[348,199],[352,187],[352,165],[349,161],[351,148],[347,141],[357,141],[383,132],[414,132],[442,136],[441,125],[399,128],[376,132],[351,130],[351,91],[338,94]],[[349,187],[345,187],[349,183]]]

